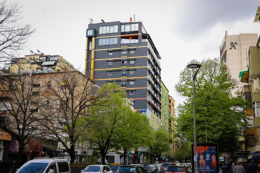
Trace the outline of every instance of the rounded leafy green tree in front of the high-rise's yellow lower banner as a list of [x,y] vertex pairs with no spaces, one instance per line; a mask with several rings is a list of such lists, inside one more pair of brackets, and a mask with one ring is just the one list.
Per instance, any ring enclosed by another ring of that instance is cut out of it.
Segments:
[[[149,118],[138,111],[130,111],[125,127],[121,129],[121,133],[114,141],[113,150],[123,150],[124,158],[126,158],[127,150],[137,149],[140,146],[148,147],[152,142],[153,134],[154,130],[150,126]],[[124,164],[126,164],[126,159],[124,159]]]

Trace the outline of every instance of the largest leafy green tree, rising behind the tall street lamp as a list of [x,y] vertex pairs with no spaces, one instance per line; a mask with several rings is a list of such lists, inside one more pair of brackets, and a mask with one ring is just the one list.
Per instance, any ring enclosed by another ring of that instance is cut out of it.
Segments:
[[[238,139],[241,136],[239,128],[248,126],[244,110],[250,107],[250,103],[231,95],[231,91],[237,87],[237,82],[231,78],[229,69],[219,58],[204,59],[201,62],[192,60],[190,63],[202,65],[195,81],[197,142],[205,142],[204,122],[209,122],[208,142],[218,143],[220,152],[239,149]],[[192,77],[195,72],[196,69],[185,67],[180,73],[178,84],[175,85],[177,93],[186,98],[186,101],[177,108],[179,114],[176,131],[191,142],[193,141]]]

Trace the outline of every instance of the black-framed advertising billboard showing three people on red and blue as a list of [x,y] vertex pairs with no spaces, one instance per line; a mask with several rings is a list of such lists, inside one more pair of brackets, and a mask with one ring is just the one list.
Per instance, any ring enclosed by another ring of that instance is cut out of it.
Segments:
[[192,144],[192,173],[194,172],[194,159],[197,160],[196,173],[217,173],[218,167],[218,144],[197,143],[196,157],[194,157],[194,146]]

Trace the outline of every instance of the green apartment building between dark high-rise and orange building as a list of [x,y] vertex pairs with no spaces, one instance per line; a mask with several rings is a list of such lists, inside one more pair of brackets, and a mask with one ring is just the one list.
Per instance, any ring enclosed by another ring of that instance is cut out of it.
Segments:
[[168,131],[169,123],[169,90],[166,88],[164,83],[161,81],[161,126]]

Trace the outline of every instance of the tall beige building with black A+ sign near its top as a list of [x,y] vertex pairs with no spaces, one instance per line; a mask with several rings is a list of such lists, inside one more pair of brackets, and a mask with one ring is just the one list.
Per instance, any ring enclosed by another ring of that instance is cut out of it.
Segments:
[[243,84],[239,80],[239,72],[248,70],[248,51],[249,47],[256,46],[257,33],[240,33],[237,35],[228,35],[225,37],[219,47],[220,59],[228,66],[232,78],[238,81],[238,89],[232,91],[241,91]]

